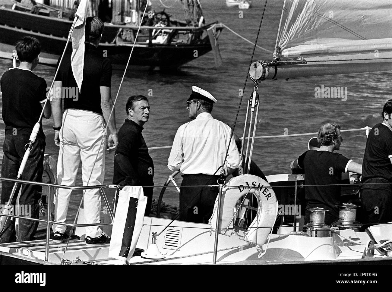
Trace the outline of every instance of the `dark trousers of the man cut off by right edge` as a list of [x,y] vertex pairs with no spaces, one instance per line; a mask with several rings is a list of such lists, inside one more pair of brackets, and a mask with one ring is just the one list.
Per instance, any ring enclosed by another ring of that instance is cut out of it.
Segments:
[[361,202],[364,213],[362,223],[379,224],[392,221],[392,188],[385,184],[387,182],[381,178],[372,178],[362,185]]

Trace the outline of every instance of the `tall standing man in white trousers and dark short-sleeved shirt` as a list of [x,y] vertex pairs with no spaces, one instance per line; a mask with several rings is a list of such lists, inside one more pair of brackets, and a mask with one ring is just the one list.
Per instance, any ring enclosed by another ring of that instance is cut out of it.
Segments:
[[[85,56],[82,88],[79,92],[71,69],[71,52],[65,54],[54,82],[56,91],[76,92],[75,96],[62,96],[64,99],[63,118],[61,119],[61,98],[54,98],[53,120],[54,141],[60,144],[58,154],[58,184],[74,186],[80,160],[82,160],[83,185],[102,185],[105,176],[105,139],[104,124],[109,123],[109,149],[117,145],[117,129],[111,99],[112,66],[97,50],[102,37],[103,22],[98,17],[88,17],[85,26]],[[71,98],[72,97],[72,98]],[[113,145],[113,147],[111,147]],[[65,222],[71,190],[58,189],[55,199],[55,220]],[[101,198],[98,189],[85,191],[83,200],[86,223],[99,223]],[[53,225],[53,242],[67,240],[65,225]],[[109,243],[110,238],[99,226],[86,227],[86,244],[100,245]]]

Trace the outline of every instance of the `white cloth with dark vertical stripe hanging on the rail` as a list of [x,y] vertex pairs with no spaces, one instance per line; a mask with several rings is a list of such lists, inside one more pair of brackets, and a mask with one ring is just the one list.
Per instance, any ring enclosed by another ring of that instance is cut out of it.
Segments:
[[135,251],[142,232],[147,197],[142,187],[125,186],[120,192],[109,246],[109,257],[126,261]]

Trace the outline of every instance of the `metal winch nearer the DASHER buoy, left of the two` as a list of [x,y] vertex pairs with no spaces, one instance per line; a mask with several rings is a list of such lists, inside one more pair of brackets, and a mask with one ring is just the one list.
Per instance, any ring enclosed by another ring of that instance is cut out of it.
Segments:
[[332,229],[325,225],[325,212],[328,210],[315,207],[308,209],[312,214],[310,214],[310,223],[304,225],[303,232],[309,234],[310,237],[331,237]]

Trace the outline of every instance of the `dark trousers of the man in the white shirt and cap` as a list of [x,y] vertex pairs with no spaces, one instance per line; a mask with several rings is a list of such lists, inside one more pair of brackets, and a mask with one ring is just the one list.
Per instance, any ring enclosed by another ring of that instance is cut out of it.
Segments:
[[218,187],[208,187],[208,185],[217,185],[220,176],[207,174],[184,174],[183,176],[180,189],[180,220],[208,223],[218,196]]

